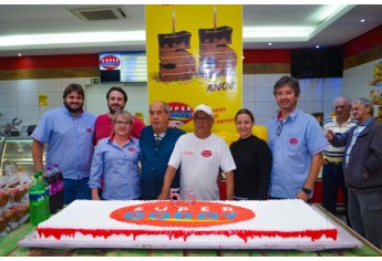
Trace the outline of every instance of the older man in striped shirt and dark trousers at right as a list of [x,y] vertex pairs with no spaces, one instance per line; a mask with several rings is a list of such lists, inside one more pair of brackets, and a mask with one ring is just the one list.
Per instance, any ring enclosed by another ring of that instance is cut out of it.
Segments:
[[[333,101],[335,116],[323,122],[323,134],[329,129],[334,133],[345,133],[357,125],[357,121],[350,115],[351,100],[339,96]],[[337,216],[337,195],[339,187],[342,190],[345,208],[347,225],[350,226],[348,217],[348,189],[343,179],[343,158],[344,147],[330,146],[323,154],[322,161],[322,207]]]

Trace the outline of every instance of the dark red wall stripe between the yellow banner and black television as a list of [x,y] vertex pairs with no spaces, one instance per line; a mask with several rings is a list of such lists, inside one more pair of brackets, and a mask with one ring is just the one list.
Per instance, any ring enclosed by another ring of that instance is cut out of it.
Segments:
[[242,63],[290,63],[289,49],[244,50]]

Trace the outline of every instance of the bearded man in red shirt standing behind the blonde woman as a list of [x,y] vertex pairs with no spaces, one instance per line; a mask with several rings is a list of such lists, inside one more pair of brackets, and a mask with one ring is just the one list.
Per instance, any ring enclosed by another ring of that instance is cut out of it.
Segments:
[[[127,94],[123,91],[122,87],[111,87],[106,93],[106,101],[109,113],[99,115],[95,119],[95,136],[94,144],[96,145],[100,139],[110,137],[113,129],[113,117],[114,114],[124,109],[127,103]],[[141,130],[145,127],[145,124],[136,116],[133,116],[134,126],[131,132],[131,135],[134,138],[140,138]]]

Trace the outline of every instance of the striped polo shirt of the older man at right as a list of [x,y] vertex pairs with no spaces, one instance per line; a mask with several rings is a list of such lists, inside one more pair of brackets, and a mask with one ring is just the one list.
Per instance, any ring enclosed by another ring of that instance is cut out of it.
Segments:
[[[334,133],[345,133],[351,127],[357,125],[357,121],[352,117],[348,118],[348,121],[342,124],[341,126],[337,123],[337,117],[333,116],[331,118],[328,118],[323,122],[323,134],[327,134],[328,129],[333,130]],[[330,147],[326,150],[323,150],[323,156],[327,158],[330,163],[340,163],[343,158],[343,152],[344,147],[333,147],[330,145]]]

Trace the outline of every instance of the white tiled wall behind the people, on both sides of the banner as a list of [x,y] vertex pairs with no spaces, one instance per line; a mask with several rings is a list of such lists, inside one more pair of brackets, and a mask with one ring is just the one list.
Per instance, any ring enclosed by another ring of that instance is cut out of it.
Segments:
[[[324,114],[333,109],[332,101],[339,95],[351,98],[369,97],[374,69],[373,61],[344,71],[343,79],[301,80],[301,94],[298,106],[307,113]],[[277,109],[273,85],[283,74],[245,74],[242,79],[242,107],[249,108],[256,124],[267,125]],[[39,122],[40,116],[62,104],[62,92],[68,84],[75,82],[85,86],[85,109],[94,115],[107,112],[105,94],[111,85],[90,86],[90,79],[47,79],[0,81],[0,125],[14,117],[22,119],[23,126]],[[147,88],[145,85],[122,86],[128,94],[127,109],[145,115],[147,123]],[[48,95],[49,106],[39,106],[39,93]],[[22,126],[20,127],[20,129]]]

